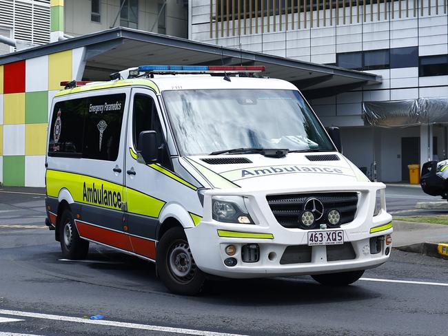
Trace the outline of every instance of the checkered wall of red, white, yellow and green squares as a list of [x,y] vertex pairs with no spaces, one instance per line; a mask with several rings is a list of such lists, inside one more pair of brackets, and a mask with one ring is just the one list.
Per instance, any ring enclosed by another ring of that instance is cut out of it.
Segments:
[[61,81],[81,80],[84,48],[0,65],[0,182],[43,187],[49,108]]

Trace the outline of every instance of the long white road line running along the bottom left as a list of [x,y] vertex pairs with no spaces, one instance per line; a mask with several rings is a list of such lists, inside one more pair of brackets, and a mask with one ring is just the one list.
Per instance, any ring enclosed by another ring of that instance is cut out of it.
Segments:
[[169,326],[152,326],[150,324],[136,324],[136,323],[116,322],[116,321],[108,321],[108,320],[105,320],[105,319],[83,319],[81,317],[70,317],[70,316],[39,314],[39,313],[28,313],[28,312],[25,312],[25,311],[7,311],[6,309],[0,309],[0,314],[12,315],[12,316],[21,316],[21,317],[34,317],[36,319],[52,319],[52,320],[55,320],[55,321],[64,321],[64,322],[77,322],[77,323],[84,323],[84,324],[99,324],[101,326],[116,326],[116,327],[121,327],[121,328],[161,331],[163,333],[176,333],[176,334],[184,334],[184,335],[244,336],[244,335],[230,334],[230,333],[216,333],[214,331],[194,330],[194,329],[184,329],[184,328],[173,328],[173,327],[169,327]]

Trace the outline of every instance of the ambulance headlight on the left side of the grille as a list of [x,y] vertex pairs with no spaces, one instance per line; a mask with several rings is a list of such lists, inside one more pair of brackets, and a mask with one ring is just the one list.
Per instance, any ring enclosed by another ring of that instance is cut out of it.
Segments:
[[254,224],[242,196],[212,197],[212,218],[218,222]]

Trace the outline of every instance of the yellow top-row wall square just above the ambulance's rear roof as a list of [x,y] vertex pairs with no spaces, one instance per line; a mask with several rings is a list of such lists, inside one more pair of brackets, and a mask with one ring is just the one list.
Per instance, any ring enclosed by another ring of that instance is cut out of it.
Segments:
[[61,90],[62,81],[72,81],[72,50],[48,56],[48,90]]

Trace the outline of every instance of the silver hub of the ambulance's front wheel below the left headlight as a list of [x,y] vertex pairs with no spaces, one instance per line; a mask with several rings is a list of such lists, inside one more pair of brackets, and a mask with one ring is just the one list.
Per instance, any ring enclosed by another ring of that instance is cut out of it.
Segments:
[[179,280],[187,281],[193,277],[196,264],[187,243],[179,242],[172,247],[169,265],[172,274]]

